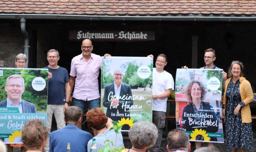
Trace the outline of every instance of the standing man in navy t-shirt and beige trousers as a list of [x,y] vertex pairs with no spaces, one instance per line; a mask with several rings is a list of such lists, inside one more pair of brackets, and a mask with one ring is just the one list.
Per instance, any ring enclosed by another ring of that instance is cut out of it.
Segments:
[[[48,69],[53,75],[52,79],[48,80],[47,128],[49,133],[51,132],[53,113],[58,130],[66,126],[64,112],[69,104],[70,85],[68,71],[57,65],[59,59],[60,56],[57,50],[51,49],[47,52],[49,66],[44,68]],[[43,151],[49,151],[49,138]]]

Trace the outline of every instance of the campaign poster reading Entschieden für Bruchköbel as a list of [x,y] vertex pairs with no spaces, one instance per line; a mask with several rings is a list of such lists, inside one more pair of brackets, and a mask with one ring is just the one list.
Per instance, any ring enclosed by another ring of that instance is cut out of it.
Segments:
[[222,69],[177,69],[176,127],[190,141],[224,143],[221,117]]

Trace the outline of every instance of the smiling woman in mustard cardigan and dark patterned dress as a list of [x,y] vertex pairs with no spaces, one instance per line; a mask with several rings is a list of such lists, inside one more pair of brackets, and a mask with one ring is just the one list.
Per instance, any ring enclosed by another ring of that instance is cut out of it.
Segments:
[[232,152],[244,152],[245,148],[254,148],[252,118],[249,103],[253,92],[249,81],[243,76],[244,65],[233,61],[228,69],[230,77],[225,83],[222,116],[225,116],[226,147]]

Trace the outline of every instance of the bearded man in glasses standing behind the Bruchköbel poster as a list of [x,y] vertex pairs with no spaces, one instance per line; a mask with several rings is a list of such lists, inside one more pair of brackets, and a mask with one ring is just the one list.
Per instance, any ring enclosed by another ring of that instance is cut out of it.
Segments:
[[[212,48],[206,49],[204,51],[204,62],[205,62],[205,66],[201,67],[200,69],[220,69],[218,67],[216,67],[215,64],[213,64],[213,61],[216,60],[216,56],[215,56],[215,50]],[[182,69],[188,69],[187,66],[181,67]],[[222,77],[222,90],[225,89],[225,82],[228,79],[227,78],[227,73],[226,72],[221,72],[223,74]]]

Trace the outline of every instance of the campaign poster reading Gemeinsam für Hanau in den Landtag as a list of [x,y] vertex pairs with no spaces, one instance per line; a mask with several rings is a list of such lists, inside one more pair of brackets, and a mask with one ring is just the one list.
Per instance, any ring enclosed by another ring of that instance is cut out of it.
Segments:
[[152,79],[152,58],[102,57],[101,108],[121,131],[152,122]]

